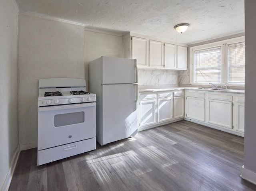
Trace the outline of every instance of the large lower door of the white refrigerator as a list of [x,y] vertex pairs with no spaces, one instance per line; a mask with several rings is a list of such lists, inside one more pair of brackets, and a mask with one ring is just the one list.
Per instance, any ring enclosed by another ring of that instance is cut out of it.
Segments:
[[101,145],[137,134],[136,86],[102,85]]

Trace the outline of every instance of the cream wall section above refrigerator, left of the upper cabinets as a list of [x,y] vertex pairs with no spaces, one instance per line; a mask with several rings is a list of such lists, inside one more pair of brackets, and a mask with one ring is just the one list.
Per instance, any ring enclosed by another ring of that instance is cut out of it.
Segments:
[[124,57],[122,36],[85,30],[85,80],[89,91],[89,62],[101,56]]

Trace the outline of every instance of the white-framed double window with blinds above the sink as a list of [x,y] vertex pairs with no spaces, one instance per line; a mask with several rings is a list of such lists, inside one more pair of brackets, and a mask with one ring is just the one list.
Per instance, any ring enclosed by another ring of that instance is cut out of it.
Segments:
[[244,86],[244,36],[190,45],[190,83]]

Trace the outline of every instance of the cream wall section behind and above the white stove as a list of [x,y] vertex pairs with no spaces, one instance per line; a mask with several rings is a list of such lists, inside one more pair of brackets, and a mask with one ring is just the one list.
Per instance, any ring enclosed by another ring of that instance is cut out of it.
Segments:
[[20,150],[37,147],[38,80],[84,79],[84,27],[19,15]]

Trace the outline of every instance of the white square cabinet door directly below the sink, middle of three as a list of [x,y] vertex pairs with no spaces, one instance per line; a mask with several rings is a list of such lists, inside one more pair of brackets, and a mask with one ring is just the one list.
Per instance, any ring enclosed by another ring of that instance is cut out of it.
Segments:
[[232,129],[232,102],[208,99],[208,122]]

